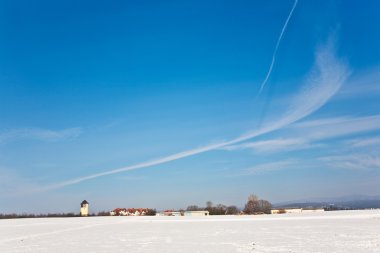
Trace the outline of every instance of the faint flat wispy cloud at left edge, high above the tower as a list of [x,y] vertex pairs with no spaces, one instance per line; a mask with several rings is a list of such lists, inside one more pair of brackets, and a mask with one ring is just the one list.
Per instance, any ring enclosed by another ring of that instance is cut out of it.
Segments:
[[50,130],[40,128],[13,129],[0,133],[0,144],[23,140],[60,141],[75,139],[82,132],[82,128],[79,127],[66,128],[62,130]]

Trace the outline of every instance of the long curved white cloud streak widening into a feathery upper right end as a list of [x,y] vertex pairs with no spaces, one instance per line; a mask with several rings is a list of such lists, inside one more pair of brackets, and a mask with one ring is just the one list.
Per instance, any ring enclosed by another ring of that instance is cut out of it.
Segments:
[[117,174],[125,171],[136,170],[141,168],[152,167],[155,165],[171,162],[181,158],[193,156],[196,154],[204,153],[210,150],[219,149],[224,146],[236,144],[238,142],[246,141],[248,139],[278,130],[291,123],[294,123],[311,113],[321,108],[327,101],[339,90],[341,85],[345,82],[349,76],[348,66],[337,59],[334,53],[334,47],[332,43],[325,47],[321,47],[316,52],[316,62],[314,67],[310,71],[309,77],[306,79],[304,89],[295,97],[290,104],[289,109],[279,118],[279,120],[267,124],[261,129],[249,132],[241,135],[230,141],[224,141],[208,146],[180,152],[164,158],[138,163],[135,165],[109,170],[105,172],[95,173],[92,175],[74,178],[71,180],[63,181],[48,185],[40,188],[38,191],[47,191],[57,188],[62,188],[68,185],[77,184],[86,180]]

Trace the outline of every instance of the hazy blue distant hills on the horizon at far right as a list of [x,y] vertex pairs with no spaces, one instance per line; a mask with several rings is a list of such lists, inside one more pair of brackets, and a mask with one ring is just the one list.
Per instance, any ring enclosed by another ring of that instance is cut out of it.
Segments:
[[337,198],[312,198],[273,204],[275,208],[326,208],[330,210],[380,208],[380,196],[354,195]]

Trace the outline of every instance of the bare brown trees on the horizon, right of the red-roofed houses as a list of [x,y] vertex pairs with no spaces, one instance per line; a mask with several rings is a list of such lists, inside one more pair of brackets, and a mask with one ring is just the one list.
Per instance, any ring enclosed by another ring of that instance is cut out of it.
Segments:
[[270,214],[272,204],[264,199],[259,199],[256,195],[250,195],[243,210],[237,206],[226,206],[223,204],[213,205],[211,201],[206,202],[206,207],[198,207],[197,205],[190,205],[186,208],[187,211],[209,211],[210,215],[227,215],[227,214]]

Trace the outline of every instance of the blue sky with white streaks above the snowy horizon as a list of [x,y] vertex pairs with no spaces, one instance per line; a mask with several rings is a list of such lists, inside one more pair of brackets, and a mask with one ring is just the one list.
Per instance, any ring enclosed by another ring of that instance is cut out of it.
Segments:
[[0,4],[0,212],[380,195],[379,1]]

